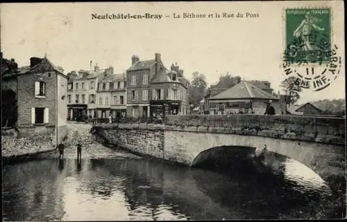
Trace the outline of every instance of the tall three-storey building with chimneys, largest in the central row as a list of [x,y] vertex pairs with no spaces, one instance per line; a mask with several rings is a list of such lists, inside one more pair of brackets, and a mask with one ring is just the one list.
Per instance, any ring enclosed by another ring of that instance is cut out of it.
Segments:
[[128,116],[187,114],[189,82],[177,64],[167,70],[159,53],[155,59],[131,59],[126,71]]

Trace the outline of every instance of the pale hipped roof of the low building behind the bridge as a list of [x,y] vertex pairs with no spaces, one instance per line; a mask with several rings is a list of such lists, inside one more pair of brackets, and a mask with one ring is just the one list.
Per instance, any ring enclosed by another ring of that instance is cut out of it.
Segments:
[[266,93],[253,84],[242,81],[239,84],[213,96],[210,100],[221,99],[261,99],[261,100],[279,100],[276,96]]

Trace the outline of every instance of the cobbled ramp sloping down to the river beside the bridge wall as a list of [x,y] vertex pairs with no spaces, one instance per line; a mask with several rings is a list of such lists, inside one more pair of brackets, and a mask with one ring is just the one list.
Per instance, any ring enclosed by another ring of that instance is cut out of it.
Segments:
[[[67,124],[67,140],[65,141],[65,158],[77,158],[77,143],[81,140],[82,144],[82,158],[105,158],[105,157],[128,157],[139,158],[133,154],[129,154],[126,151],[114,150],[103,146],[96,136],[90,133],[92,128],[91,124],[72,123]],[[54,154],[58,157],[58,151]]]

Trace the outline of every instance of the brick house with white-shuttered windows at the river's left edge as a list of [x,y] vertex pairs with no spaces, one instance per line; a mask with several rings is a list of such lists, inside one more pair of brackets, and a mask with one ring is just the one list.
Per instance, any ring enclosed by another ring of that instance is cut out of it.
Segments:
[[67,133],[67,76],[63,72],[46,57],[31,57],[30,66],[2,76],[1,88],[10,89],[17,100],[17,128],[29,134],[51,131],[52,140],[62,141]]

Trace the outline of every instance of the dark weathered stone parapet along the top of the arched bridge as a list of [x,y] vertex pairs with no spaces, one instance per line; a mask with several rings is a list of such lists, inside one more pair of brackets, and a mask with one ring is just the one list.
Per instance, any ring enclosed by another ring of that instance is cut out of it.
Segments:
[[167,115],[181,129],[345,145],[345,118],[295,115]]

